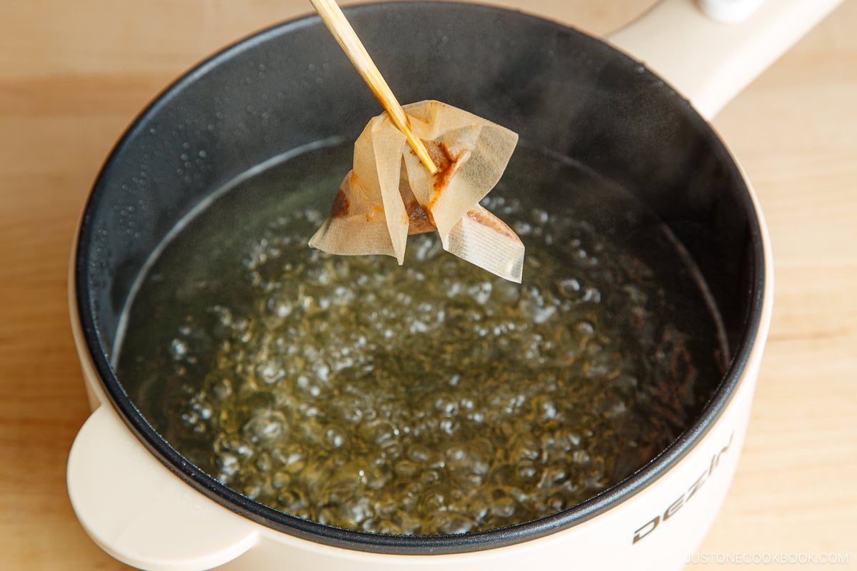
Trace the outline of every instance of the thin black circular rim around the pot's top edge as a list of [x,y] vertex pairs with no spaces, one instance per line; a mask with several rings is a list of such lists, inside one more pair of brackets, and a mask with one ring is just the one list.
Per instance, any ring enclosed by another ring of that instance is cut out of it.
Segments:
[[[400,4],[400,6],[416,5],[417,7],[437,6],[448,7],[450,5],[466,6],[469,9],[484,9],[492,12],[514,12],[510,9],[499,7],[484,6],[473,3],[448,3],[448,2],[413,2]],[[372,12],[377,9],[388,9],[386,3],[368,3],[346,8],[346,14],[363,14]],[[407,9],[407,8],[405,8]],[[530,18],[548,26],[558,27],[566,32],[571,30],[573,33],[579,33],[584,36],[589,34],[581,33],[571,27],[564,26],[560,23],[549,21],[543,17],[535,15],[527,15],[521,12],[515,12],[518,17]],[[266,41],[269,38],[279,36],[283,33],[308,27],[310,25],[319,24],[320,21],[315,15],[307,15],[295,20],[285,21],[267,27],[260,32],[253,33],[237,42],[228,45],[224,49],[207,57],[202,62],[196,64],[188,72],[173,81],[169,86],[160,92],[141,113],[135,117],[128,128],[124,131],[122,137],[117,144],[111,149],[105,164],[102,166],[99,175],[93,183],[93,189],[87,199],[87,204],[84,209],[81,224],[78,228],[78,239],[76,242],[76,251],[74,254],[74,282],[71,287],[74,288],[74,299],[76,301],[76,312],[73,315],[81,324],[81,330],[86,340],[88,356],[92,360],[95,370],[98,372],[99,382],[104,389],[106,396],[110,400],[111,406],[117,411],[119,417],[134,433],[135,437],[146,447],[146,449],[158,458],[165,467],[169,468],[172,473],[183,479],[187,484],[200,491],[205,496],[213,501],[231,509],[233,512],[243,515],[244,517],[254,520],[255,522],[270,527],[279,532],[285,532],[298,538],[308,539],[315,543],[327,544],[335,547],[341,547],[351,550],[360,550],[370,553],[381,554],[397,554],[397,555],[437,555],[437,554],[452,554],[465,553],[478,550],[494,549],[506,545],[518,544],[524,541],[542,538],[551,533],[564,530],[566,528],[576,526],[584,521],[590,520],[599,514],[602,514],[609,509],[613,509],[620,503],[625,502],[629,498],[637,495],[640,491],[644,491],[646,487],[659,479],[663,473],[682,460],[688,455],[696,444],[701,441],[714,425],[717,419],[720,418],[723,410],[728,406],[734,396],[741,380],[745,377],[744,373],[751,360],[752,353],[758,347],[760,333],[764,337],[762,331],[763,317],[766,313],[766,307],[770,306],[766,302],[772,294],[770,293],[770,249],[767,247],[767,236],[764,232],[764,224],[762,222],[761,213],[758,210],[758,205],[753,197],[752,188],[746,180],[746,176],[740,170],[739,165],[735,162],[731,153],[726,146],[723,145],[720,137],[704,121],[701,116],[698,116],[696,111],[692,110],[689,103],[682,98],[676,98],[677,104],[686,104],[690,109],[688,117],[693,122],[693,127],[706,134],[710,134],[711,140],[716,142],[715,150],[722,154],[719,158],[732,170],[737,180],[744,182],[741,197],[746,202],[746,210],[751,214],[749,217],[749,225],[752,234],[752,253],[754,256],[752,264],[752,291],[750,295],[750,310],[746,317],[746,328],[740,336],[738,348],[735,351],[734,358],[729,363],[726,372],[723,375],[721,384],[717,387],[710,401],[704,407],[702,413],[693,425],[684,431],[674,443],[671,443],[666,449],[647,462],[644,467],[639,468],[635,473],[632,473],[626,479],[623,479],[618,484],[611,486],[605,491],[590,497],[582,503],[578,503],[571,508],[562,510],[555,514],[550,514],[537,520],[530,520],[524,523],[515,524],[512,526],[500,527],[480,532],[470,532],[454,535],[431,535],[431,536],[408,536],[408,535],[391,535],[372,532],[361,532],[350,529],[342,529],[339,527],[327,526],[315,521],[303,520],[297,516],[285,514],[277,509],[269,508],[264,504],[255,502],[237,491],[231,490],[228,486],[221,484],[217,479],[204,473],[199,467],[186,460],[181,454],[173,449],[172,446],[160,437],[152,425],[149,425],[142,413],[135,407],[128,393],[123,389],[123,385],[119,382],[116,374],[113,372],[105,350],[100,342],[97,331],[95,318],[93,314],[93,306],[87,294],[87,252],[90,242],[92,241],[92,227],[90,213],[95,209],[101,198],[106,180],[109,178],[113,164],[117,162],[117,158],[122,156],[124,147],[133,138],[135,133],[141,128],[141,125],[146,122],[147,117],[153,115],[159,108],[166,104],[174,92],[180,91],[183,86],[193,82],[198,75],[204,74],[207,70],[219,65],[219,62],[225,61],[236,56],[243,50],[252,47],[260,42]],[[591,38],[591,37],[590,37]],[[602,39],[596,39],[602,43]],[[638,62],[628,57],[621,51],[615,50],[616,57],[625,58],[627,62],[638,65]],[[646,71],[651,74],[652,72]],[[668,84],[665,84],[665,89],[672,91]],[[770,311],[767,311],[770,313]],[[765,317],[765,319],[770,318]],[[764,342],[764,338],[762,339]]]

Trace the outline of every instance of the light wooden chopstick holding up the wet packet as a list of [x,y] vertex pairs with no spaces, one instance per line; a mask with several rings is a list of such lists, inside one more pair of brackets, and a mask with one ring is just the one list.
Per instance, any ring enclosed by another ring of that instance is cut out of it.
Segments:
[[357,68],[357,73],[363,77],[369,89],[375,93],[375,97],[378,98],[381,105],[387,110],[387,114],[390,116],[393,125],[405,134],[405,138],[407,138],[414,152],[417,153],[417,157],[420,158],[428,171],[434,175],[438,169],[431,157],[428,156],[428,151],[425,145],[423,145],[423,140],[411,131],[411,122],[408,120],[408,116],[405,115],[405,110],[402,110],[402,106],[399,104],[396,96],[393,95],[393,90],[390,89],[387,81],[381,76],[381,72],[378,71],[375,62],[372,61],[366,48],[363,47],[363,42],[357,38],[354,28],[345,19],[345,15],[339,9],[339,5],[335,0],[309,0],[309,2],[312,3],[315,11],[321,16],[321,21],[325,23],[327,29],[330,30],[330,33],[339,42],[339,46],[345,51],[345,55],[348,56],[351,63]]

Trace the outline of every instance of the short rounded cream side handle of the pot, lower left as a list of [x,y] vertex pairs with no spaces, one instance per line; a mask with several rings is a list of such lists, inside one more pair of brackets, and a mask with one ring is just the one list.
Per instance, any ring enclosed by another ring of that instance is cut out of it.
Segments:
[[95,543],[150,571],[201,571],[256,544],[256,524],[191,489],[101,405],[69,453],[69,498]]

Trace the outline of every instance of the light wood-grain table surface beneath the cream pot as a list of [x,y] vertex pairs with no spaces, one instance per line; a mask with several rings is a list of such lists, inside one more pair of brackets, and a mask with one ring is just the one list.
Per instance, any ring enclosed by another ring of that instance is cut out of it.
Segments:
[[[601,34],[650,4],[526,5]],[[308,9],[303,0],[3,2],[0,569],[125,568],[87,538],[65,491],[69,446],[87,418],[66,302],[75,225],[111,144],[162,86],[219,46]],[[746,449],[701,549],[709,562],[794,554],[806,560],[797,568],[857,566],[855,29],[857,1],[846,0],[714,121],[770,224],[776,307]],[[848,562],[823,565],[830,553]]]

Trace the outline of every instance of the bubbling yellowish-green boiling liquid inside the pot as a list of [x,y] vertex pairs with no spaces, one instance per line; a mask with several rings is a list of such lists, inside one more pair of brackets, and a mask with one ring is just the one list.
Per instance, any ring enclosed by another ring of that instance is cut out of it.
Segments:
[[246,177],[142,277],[117,364],[236,491],[332,526],[507,526],[579,503],[678,437],[722,376],[704,286],[632,197],[518,148],[484,205],[509,283],[411,236],[405,265],[307,247],[350,146]]

